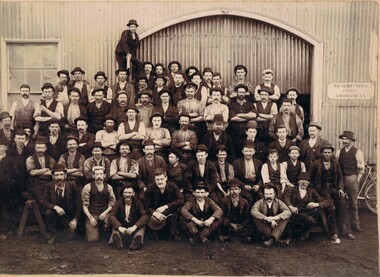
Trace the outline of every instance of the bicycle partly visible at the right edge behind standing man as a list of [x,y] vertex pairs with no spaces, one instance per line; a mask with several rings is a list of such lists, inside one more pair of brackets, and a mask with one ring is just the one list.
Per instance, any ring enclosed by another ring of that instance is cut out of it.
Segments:
[[360,180],[360,190],[358,193],[359,200],[365,200],[367,208],[377,214],[377,198],[376,198],[376,164],[367,164],[365,172]]

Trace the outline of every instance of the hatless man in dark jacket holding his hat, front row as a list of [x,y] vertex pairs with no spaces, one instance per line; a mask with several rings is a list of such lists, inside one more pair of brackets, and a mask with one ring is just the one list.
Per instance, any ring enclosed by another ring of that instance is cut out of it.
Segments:
[[176,222],[180,208],[184,204],[183,196],[176,184],[168,182],[165,168],[153,171],[154,182],[145,191],[145,210],[148,213],[148,226],[157,231],[156,237],[176,236]]

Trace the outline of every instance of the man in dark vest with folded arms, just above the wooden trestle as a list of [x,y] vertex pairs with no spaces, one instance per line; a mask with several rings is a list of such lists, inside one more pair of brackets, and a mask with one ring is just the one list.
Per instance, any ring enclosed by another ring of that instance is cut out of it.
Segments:
[[44,137],[37,137],[35,153],[26,159],[28,171],[28,191],[39,204],[43,198],[45,185],[51,181],[51,170],[55,160],[46,155],[48,141]]

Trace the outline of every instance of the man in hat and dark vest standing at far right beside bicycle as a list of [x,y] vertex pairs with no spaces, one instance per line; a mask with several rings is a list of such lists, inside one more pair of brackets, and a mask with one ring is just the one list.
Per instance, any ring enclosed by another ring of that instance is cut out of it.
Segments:
[[361,150],[353,146],[355,138],[352,131],[344,131],[339,138],[342,140],[343,148],[336,152],[336,158],[342,170],[344,190],[348,196],[349,218],[351,220],[352,230],[361,232],[358,211],[358,192],[359,182],[365,169],[364,155]]

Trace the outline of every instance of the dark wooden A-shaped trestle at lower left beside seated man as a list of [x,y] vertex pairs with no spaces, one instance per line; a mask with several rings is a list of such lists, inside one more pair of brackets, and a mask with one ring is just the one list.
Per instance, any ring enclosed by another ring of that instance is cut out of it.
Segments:
[[[18,226],[17,236],[21,237],[25,232],[40,231],[42,235],[47,236],[44,220],[42,219],[41,213],[38,209],[38,205],[29,192],[23,192],[22,197],[26,199],[24,210],[22,212],[20,225]],[[37,220],[38,226],[25,226],[26,220],[28,219],[29,211],[33,210],[34,217]]]

